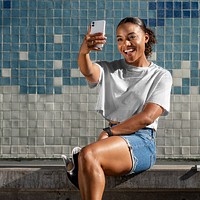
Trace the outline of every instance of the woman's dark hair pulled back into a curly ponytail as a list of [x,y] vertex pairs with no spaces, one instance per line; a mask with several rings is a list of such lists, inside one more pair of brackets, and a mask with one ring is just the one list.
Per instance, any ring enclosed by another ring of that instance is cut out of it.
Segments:
[[140,26],[140,28],[144,31],[144,33],[147,33],[149,35],[149,41],[145,44],[145,56],[148,58],[149,56],[151,56],[152,54],[152,46],[154,44],[156,44],[156,37],[154,32],[150,29],[147,28],[144,21],[138,17],[126,17],[124,19],[122,19],[119,24],[117,25],[117,28],[121,25],[121,24],[125,24],[125,23],[133,23],[136,24],[138,26]]

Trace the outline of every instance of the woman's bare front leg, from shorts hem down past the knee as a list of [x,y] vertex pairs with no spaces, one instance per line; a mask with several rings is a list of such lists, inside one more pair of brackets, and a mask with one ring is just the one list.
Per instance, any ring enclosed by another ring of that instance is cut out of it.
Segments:
[[101,200],[105,175],[121,175],[132,168],[127,143],[118,136],[84,147],[79,154],[79,187],[82,200]]

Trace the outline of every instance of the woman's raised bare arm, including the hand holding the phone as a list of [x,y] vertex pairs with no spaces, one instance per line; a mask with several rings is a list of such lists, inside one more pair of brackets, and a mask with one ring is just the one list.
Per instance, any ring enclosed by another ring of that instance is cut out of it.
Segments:
[[96,47],[96,44],[105,43],[106,37],[102,33],[90,34],[90,28],[88,29],[88,33],[84,37],[79,50],[78,66],[81,73],[89,82],[97,83],[100,77],[100,69],[96,64],[92,63],[89,55],[90,51],[101,51],[100,48]]

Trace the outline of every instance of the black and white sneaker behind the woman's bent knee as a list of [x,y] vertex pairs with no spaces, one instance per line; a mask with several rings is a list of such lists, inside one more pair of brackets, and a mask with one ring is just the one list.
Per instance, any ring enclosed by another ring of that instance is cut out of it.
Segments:
[[72,158],[67,158],[66,155],[61,155],[66,167],[67,177],[78,189],[78,154],[80,150],[80,147],[75,147],[72,150]]

